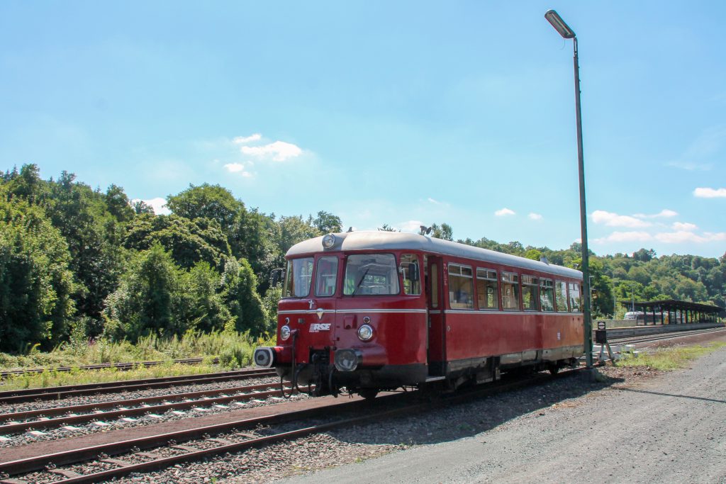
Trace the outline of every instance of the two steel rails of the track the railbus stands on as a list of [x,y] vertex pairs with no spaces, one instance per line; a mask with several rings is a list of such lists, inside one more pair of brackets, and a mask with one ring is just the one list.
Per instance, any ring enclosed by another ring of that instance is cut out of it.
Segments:
[[[574,374],[579,369],[568,370],[561,372],[556,377],[566,377],[569,374]],[[315,409],[307,409],[303,411],[287,412],[285,414],[272,414],[264,417],[258,417],[255,419],[244,419],[235,422],[225,422],[224,424],[216,424],[208,427],[197,427],[195,429],[184,430],[179,432],[169,432],[161,435],[152,435],[145,438],[125,440],[117,443],[107,443],[100,446],[92,446],[81,449],[74,449],[70,451],[63,451],[56,454],[49,454],[46,456],[35,456],[29,459],[19,459],[13,462],[0,463],[0,472],[4,472],[7,475],[18,475],[20,473],[33,472],[39,469],[43,469],[48,464],[52,465],[63,465],[63,464],[76,464],[78,462],[84,462],[90,459],[94,459],[99,454],[105,456],[124,454],[129,451],[138,452],[142,448],[152,448],[163,446],[168,442],[174,442],[176,445],[177,441],[189,441],[199,438],[209,439],[211,435],[219,435],[224,432],[231,430],[241,430],[243,428],[254,427],[258,424],[277,424],[282,422],[290,422],[292,420],[300,420],[311,417],[318,417],[321,415],[340,414],[343,411],[356,411],[358,409],[365,409],[366,414],[362,416],[352,417],[348,419],[338,419],[335,422],[327,422],[324,424],[302,427],[298,430],[292,430],[288,432],[281,432],[275,435],[267,435],[261,438],[252,438],[237,443],[225,443],[224,440],[216,440],[216,442],[222,441],[222,445],[215,446],[213,448],[189,451],[186,454],[179,456],[171,456],[166,458],[154,459],[149,462],[142,462],[139,464],[131,464],[129,462],[123,462],[118,459],[113,459],[114,464],[121,465],[117,469],[107,469],[101,472],[95,472],[89,475],[81,475],[77,477],[70,477],[66,480],[57,481],[63,483],[94,483],[102,480],[107,480],[112,477],[121,477],[123,475],[131,474],[132,472],[146,472],[156,469],[162,469],[173,464],[180,462],[189,462],[198,459],[202,459],[208,456],[216,454],[224,454],[228,452],[237,452],[245,450],[246,448],[265,446],[269,443],[274,443],[280,440],[289,440],[292,438],[302,437],[316,432],[324,432],[332,430],[334,428],[347,427],[354,424],[363,424],[366,422],[374,421],[379,422],[380,419],[396,417],[401,414],[409,415],[428,409],[435,409],[440,406],[450,405],[452,403],[463,403],[471,401],[476,398],[501,393],[502,391],[516,390],[521,387],[527,387],[530,385],[537,384],[542,381],[550,381],[552,377],[542,374],[535,375],[526,380],[517,380],[515,382],[497,382],[494,385],[487,385],[481,389],[473,389],[463,393],[457,393],[454,395],[446,395],[438,401],[427,401],[424,403],[412,403],[406,404],[409,398],[417,396],[418,393],[399,393],[396,395],[384,395],[375,399],[373,402],[367,401],[354,401],[347,403],[335,403],[333,405],[326,405],[317,407]],[[391,409],[391,405],[401,405],[397,408]],[[382,407],[382,409],[380,409]],[[372,409],[379,408],[379,411],[372,411]],[[334,412],[331,410],[335,410]],[[189,449],[189,447],[186,447]]]

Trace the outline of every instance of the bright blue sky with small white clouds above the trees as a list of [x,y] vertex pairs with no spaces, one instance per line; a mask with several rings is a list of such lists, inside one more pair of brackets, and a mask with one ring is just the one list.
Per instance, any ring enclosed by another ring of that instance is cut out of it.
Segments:
[[0,168],[565,248],[726,252],[726,2],[2,1]]

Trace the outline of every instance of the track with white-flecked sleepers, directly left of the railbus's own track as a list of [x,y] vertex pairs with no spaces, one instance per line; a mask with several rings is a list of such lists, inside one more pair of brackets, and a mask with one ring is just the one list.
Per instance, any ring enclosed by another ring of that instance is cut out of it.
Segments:
[[[237,390],[239,391],[246,391],[249,393],[237,393],[235,395],[223,395],[216,398],[204,398],[199,400],[192,400],[192,401],[179,401],[179,402],[172,402],[172,403],[162,403],[160,405],[145,405],[145,406],[138,406],[134,408],[123,408],[123,409],[117,409],[117,410],[111,410],[111,411],[103,411],[100,413],[93,413],[93,414],[81,414],[81,415],[66,415],[63,417],[57,417],[54,419],[45,419],[45,420],[34,420],[32,422],[17,422],[17,423],[10,423],[10,424],[4,424],[0,425],[0,435],[8,435],[15,432],[23,432],[25,430],[33,430],[33,429],[41,429],[41,428],[49,428],[49,427],[60,427],[61,425],[71,425],[71,424],[78,424],[82,422],[93,422],[97,420],[106,420],[106,419],[117,419],[117,418],[123,418],[123,417],[129,417],[132,415],[144,415],[144,414],[161,414],[165,413],[167,411],[171,410],[181,410],[181,409],[191,409],[198,406],[211,406],[211,405],[221,405],[224,403],[232,403],[236,401],[248,401],[253,400],[254,398],[269,398],[272,396],[280,396],[282,395],[282,391],[280,388],[277,388],[277,390],[269,390],[269,391],[261,391],[261,390],[268,390],[274,385],[253,385],[250,387],[237,387]],[[286,387],[285,390],[290,390],[290,387]],[[223,390],[217,390],[217,391],[223,391]],[[227,393],[229,393],[228,390],[224,390]],[[166,395],[168,396],[168,395]],[[139,399],[143,400],[143,399]],[[131,401],[126,402],[131,403]],[[93,406],[90,405],[84,405],[84,407]],[[20,412],[23,413],[23,412]],[[0,415],[0,418],[8,417],[8,415]]]

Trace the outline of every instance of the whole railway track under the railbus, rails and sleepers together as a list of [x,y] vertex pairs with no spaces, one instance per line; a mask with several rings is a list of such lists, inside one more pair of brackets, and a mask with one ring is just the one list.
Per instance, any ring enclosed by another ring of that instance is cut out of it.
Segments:
[[[558,378],[567,377],[577,371],[574,369],[562,372]],[[46,481],[49,480],[49,473],[54,475],[53,482],[102,482],[134,472],[151,472],[181,462],[240,452],[355,424],[409,416],[439,406],[464,403],[549,381],[551,378],[536,374],[524,380],[497,382],[433,401],[417,398],[420,395],[418,392],[409,392],[382,395],[372,402],[347,401],[297,411],[275,413],[272,408],[271,413],[259,417],[146,435],[142,438],[121,441],[112,438],[94,446],[0,462],[0,479],[3,479],[0,482],[20,484]],[[326,401],[330,400],[332,399],[328,398]],[[58,480],[58,477],[62,479]]]

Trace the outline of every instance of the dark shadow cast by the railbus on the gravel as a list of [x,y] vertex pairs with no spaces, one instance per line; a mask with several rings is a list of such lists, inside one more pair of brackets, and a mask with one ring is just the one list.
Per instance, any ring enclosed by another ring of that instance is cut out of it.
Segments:
[[560,375],[521,390],[493,395],[469,403],[439,407],[410,417],[387,419],[330,432],[348,443],[419,445],[471,437],[526,414],[531,418],[567,407],[586,406],[572,399],[624,382],[621,378],[598,375],[591,382],[581,374]]

